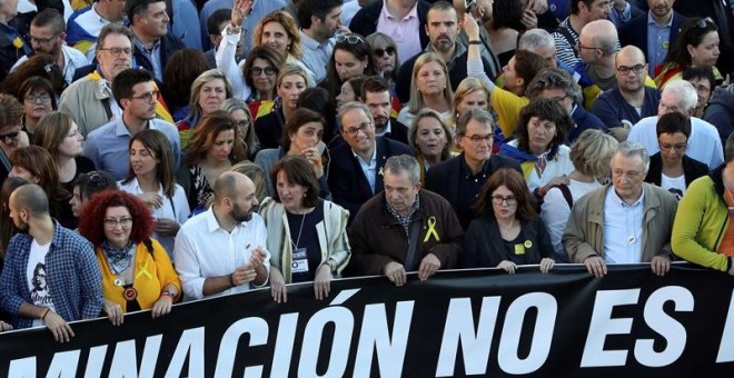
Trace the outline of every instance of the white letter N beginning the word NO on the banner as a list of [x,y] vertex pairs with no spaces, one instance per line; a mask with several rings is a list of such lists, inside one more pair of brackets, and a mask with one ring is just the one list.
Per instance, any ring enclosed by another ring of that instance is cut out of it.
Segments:
[[484,297],[479,310],[479,325],[475,331],[474,315],[470,298],[454,298],[448,304],[446,327],[440,344],[437,377],[453,377],[458,346],[462,344],[464,370],[467,375],[482,375],[487,372],[492,338],[497,324],[499,311],[499,297]]

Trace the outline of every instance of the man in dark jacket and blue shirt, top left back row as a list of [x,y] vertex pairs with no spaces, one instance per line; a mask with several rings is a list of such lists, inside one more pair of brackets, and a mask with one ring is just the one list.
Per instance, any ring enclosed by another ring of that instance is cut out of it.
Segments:
[[163,82],[163,70],[168,59],[186,46],[184,41],[168,33],[168,13],[165,0],[128,0],[126,13],[135,38],[135,60]]

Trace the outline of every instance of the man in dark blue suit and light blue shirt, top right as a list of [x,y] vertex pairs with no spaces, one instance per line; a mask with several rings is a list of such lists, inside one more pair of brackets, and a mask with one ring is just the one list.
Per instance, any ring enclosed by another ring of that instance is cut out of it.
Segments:
[[673,10],[675,0],[647,0],[649,10],[619,28],[619,43],[636,46],[645,52],[648,73],[663,63],[678,38],[685,17]]

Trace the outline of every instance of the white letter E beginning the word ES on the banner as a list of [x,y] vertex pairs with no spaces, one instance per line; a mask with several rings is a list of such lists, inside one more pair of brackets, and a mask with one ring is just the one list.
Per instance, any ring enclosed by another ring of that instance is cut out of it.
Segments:
[[594,299],[592,324],[584,346],[581,367],[624,366],[626,350],[604,350],[607,335],[624,335],[632,330],[632,318],[612,319],[615,306],[634,305],[639,297],[639,289],[599,290]]

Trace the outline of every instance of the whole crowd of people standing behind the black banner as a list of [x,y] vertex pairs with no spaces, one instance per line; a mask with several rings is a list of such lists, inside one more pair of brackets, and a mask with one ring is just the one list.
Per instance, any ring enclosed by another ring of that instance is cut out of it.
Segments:
[[718,0],[29,4],[0,0],[0,330],[457,268],[734,275]]

